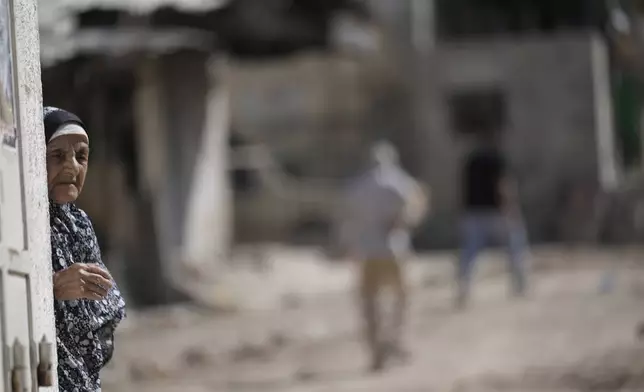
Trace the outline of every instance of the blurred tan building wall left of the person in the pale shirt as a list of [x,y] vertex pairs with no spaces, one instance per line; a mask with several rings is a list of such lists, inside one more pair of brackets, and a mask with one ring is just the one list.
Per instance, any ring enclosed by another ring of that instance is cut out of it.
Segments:
[[235,195],[236,240],[323,235],[343,178],[364,166],[375,133],[365,127],[369,77],[363,64],[328,54],[232,64],[232,130],[271,155]]

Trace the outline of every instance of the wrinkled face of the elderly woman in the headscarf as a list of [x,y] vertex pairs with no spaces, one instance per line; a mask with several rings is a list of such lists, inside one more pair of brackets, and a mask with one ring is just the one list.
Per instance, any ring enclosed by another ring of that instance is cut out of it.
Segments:
[[82,135],[64,135],[47,144],[49,197],[58,204],[76,201],[85,183],[89,143]]

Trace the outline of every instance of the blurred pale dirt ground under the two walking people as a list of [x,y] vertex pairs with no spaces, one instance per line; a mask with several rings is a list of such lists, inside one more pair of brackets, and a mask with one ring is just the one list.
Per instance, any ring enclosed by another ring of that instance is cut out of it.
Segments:
[[104,391],[642,391],[641,256],[535,252],[530,296],[517,300],[506,294],[502,258],[491,255],[465,311],[452,309],[449,258],[421,258],[409,268],[413,358],[377,375],[365,370],[347,290],[231,314],[196,306],[133,314]]

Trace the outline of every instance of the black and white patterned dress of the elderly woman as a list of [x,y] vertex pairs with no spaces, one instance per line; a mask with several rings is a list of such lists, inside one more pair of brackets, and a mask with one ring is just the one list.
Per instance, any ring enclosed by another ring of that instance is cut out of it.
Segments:
[[[50,202],[51,250],[54,272],[74,263],[98,264],[101,252],[92,223],[73,204]],[[100,370],[112,357],[114,330],[125,317],[125,302],[114,287],[101,301],[54,303],[61,392],[99,392]]]

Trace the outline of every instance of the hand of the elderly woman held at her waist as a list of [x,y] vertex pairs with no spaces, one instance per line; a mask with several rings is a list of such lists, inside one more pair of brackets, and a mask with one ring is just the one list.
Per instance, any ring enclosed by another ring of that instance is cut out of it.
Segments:
[[114,285],[109,272],[96,264],[73,264],[54,274],[54,298],[101,300]]

